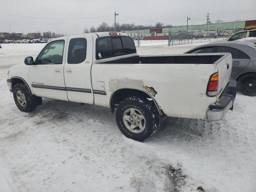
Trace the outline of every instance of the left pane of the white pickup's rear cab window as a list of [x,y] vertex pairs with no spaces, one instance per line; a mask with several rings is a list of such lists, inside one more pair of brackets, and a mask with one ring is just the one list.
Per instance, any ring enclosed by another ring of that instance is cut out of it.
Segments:
[[96,41],[96,58],[104,58],[114,55],[110,37],[99,38]]

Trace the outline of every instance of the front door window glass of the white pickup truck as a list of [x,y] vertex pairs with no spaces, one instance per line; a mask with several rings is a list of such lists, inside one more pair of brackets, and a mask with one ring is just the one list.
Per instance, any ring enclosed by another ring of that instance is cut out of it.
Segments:
[[54,41],[38,55],[38,64],[62,64],[64,40]]

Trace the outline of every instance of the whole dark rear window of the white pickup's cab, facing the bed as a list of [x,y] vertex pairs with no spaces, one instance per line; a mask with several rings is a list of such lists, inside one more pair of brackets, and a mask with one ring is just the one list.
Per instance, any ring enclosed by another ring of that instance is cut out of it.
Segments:
[[136,53],[132,38],[128,36],[103,37],[96,40],[96,59]]

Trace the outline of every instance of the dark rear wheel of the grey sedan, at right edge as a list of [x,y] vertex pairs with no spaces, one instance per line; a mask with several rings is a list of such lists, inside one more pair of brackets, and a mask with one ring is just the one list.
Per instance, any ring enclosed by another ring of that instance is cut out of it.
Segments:
[[256,73],[242,75],[237,82],[238,91],[247,96],[256,96]]

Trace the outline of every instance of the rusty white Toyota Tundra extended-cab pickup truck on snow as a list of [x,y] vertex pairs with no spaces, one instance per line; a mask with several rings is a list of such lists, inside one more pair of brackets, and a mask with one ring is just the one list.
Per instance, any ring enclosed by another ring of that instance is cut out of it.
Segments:
[[153,136],[164,116],[221,120],[236,96],[231,54],[139,56],[120,32],[56,38],[24,63],[7,79],[21,111],[42,97],[117,108],[120,131],[137,141]]

